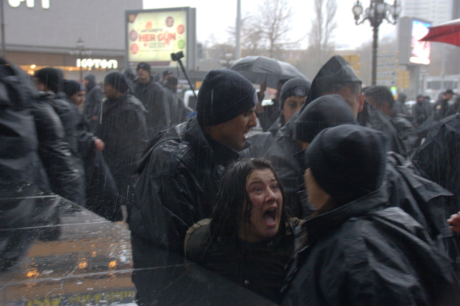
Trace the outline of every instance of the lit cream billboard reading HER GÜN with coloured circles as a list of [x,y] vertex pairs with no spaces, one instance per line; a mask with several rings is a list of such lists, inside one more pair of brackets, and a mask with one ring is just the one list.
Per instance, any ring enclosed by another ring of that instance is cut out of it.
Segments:
[[148,62],[152,68],[173,68],[176,62],[171,60],[171,53],[182,51],[182,62],[190,69],[195,58],[194,13],[190,7],[127,11],[129,66]]

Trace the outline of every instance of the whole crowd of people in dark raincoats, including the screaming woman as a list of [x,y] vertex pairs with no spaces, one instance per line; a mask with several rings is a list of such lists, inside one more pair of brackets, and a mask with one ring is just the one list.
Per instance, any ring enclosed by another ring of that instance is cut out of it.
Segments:
[[265,85],[212,70],[187,120],[178,79],[145,62],[102,89],[0,64],[2,188],[125,217],[134,268],[185,257],[283,305],[460,305],[453,91],[409,113],[334,56],[268,108]]

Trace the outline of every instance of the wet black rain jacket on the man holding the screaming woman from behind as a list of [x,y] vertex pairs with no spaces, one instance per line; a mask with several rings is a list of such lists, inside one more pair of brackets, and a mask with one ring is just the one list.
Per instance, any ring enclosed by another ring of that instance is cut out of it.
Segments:
[[164,131],[139,167],[132,234],[184,254],[185,232],[211,215],[224,167],[238,158],[206,137],[196,117]]

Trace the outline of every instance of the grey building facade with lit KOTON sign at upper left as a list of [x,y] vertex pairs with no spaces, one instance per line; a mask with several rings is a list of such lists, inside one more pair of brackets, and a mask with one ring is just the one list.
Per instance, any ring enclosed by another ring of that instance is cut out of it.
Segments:
[[5,1],[8,60],[29,74],[52,66],[77,80],[91,71],[100,81],[125,68],[125,11],[142,9],[142,0],[46,2],[48,8],[40,0]]

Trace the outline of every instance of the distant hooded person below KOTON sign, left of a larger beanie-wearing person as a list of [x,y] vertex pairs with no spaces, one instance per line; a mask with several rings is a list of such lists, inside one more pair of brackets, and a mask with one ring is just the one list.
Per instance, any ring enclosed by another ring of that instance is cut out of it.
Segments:
[[86,87],[84,107],[86,122],[88,122],[89,131],[97,134],[104,93],[101,87],[96,84],[96,77],[93,74],[86,75],[83,79],[83,85]]

